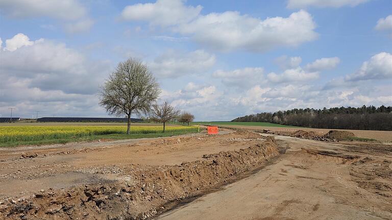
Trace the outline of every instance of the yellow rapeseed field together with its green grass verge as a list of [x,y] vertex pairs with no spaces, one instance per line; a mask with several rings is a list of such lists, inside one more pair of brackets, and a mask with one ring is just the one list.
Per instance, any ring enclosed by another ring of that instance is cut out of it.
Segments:
[[166,126],[162,132],[161,124],[132,124],[131,134],[126,134],[126,124],[100,123],[11,123],[0,125],[0,147],[20,145],[60,144],[67,142],[94,141],[100,139],[138,139],[161,137],[198,132],[197,126]]

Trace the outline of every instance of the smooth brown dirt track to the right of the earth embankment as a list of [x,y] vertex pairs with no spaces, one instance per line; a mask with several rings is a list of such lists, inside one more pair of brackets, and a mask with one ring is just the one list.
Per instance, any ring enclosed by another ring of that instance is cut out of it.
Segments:
[[287,151],[273,164],[156,219],[392,219],[388,146],[358,153],[355,143],[275,138]]

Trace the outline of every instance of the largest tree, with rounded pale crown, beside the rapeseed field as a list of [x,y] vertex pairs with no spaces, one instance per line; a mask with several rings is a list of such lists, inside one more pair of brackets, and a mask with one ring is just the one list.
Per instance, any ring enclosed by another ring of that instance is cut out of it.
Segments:
[[148,114],[161,89],[147,66],[139,60],[120,62],[101,87],[99,104],[110,115],[128,117],[127,134],[131,128],[131,114]]

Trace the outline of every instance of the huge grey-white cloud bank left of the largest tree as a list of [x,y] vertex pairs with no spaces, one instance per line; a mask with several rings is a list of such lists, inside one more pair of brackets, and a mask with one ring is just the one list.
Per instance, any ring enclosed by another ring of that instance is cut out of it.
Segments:
[[107,115],[95,94],[112,70],[109,63],[91,61],[50,40],[30,41],[23,34],[12,39],[8,49],[0,50],[0,113],[7,110],[2,106],[12,105],[19,117],[31,117],[33,111],[41,116]]

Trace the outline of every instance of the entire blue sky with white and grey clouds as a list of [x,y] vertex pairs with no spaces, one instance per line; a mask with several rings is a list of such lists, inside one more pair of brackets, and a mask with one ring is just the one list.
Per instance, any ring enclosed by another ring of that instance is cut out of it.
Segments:
[[392,105],[390,0],[0,0],[0,43],[3,117],[107,117],[129,57],[196,120]]

